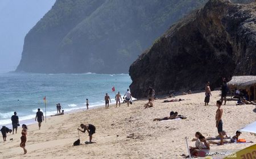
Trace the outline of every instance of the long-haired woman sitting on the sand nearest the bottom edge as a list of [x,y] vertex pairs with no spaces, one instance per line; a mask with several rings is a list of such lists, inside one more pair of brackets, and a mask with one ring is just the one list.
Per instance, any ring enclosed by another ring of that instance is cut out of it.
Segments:
[[207,153],[210,152],[210,144],[209,142],[205,139],[204,136],[200,136],[199,140],[202,143],[202,148],[200,149],[195,149],[192,151],[191,155],[192,156],[198,156],[198,157],[205,157]]

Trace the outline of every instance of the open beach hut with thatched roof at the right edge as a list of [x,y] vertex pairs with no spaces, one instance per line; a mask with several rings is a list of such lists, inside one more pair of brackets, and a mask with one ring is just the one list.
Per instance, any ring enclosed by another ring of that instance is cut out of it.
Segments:
[[246,90],[249,101],[256,100],[256,76],[233,76],[228,83],[230,95],[234,90]]

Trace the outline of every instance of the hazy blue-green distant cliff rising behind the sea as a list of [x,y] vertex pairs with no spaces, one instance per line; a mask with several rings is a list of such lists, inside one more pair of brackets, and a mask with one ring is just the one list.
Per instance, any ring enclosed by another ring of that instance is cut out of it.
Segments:
[[156,37],[206,0],[57,0],[28,32],[16,71],[126,73]]

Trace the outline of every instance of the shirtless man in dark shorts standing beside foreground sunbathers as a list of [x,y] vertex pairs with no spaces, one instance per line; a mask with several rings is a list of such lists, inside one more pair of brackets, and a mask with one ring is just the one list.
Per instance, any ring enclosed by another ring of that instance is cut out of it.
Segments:
[[223,110],[221,108],[221,101],[217,101],[216,103],[216,106],[218,107],[217,111],[216,111],[216,116],[215,116],[215,119],[216,119],[216,127],[218,129],[218,135],[220,135],[220,139],[221,139],[221,142],[220,142],[220,145],[223,145],[223,130],[222,130],[222,120],[221,120],[221,117],[222,117],[222,114],[223,114]]

